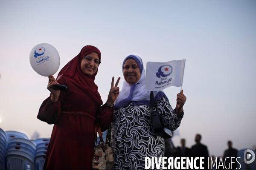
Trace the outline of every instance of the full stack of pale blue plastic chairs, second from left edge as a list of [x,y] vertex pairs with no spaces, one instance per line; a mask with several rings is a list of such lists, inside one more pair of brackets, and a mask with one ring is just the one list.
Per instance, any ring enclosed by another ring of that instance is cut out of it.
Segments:
[[28,139],[24,133],[6,131],[6,169],[7,170],[35,170],[36,144]]

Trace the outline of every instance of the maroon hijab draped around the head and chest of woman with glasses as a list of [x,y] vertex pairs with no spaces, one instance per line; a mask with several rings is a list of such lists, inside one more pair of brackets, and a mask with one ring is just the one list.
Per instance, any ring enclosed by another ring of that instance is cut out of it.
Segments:
[[98,86],[94,83],[94,79],[98,73],[98,70],[91,76],[86,76],[81,71],[82,57],[92,52],[96,52],[98,54],[100,61],[101,54],[99,49],[92,45],[86,45],[81,49],[80,53],[76,57],[71,59],[71,61],[61,69],[57,80],[61,77],[67,77],[70,82],[72,82],[78,88],[84,90],[84,92],[88,94],[97,103],[98,106],[101,106],[103,102],[98,92]]

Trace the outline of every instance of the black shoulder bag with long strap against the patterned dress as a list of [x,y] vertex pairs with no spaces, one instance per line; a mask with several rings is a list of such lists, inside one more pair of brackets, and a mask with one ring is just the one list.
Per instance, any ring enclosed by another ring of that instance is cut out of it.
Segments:
[[158,136],[162,136],[163,139],[171,138],[172,131],[163,126],[163,124],[160,121],[159,115],[156,111],[153,91],[150,92],[150,105],[151,105],[152,127],[154,130],[154,133],[156,133]]

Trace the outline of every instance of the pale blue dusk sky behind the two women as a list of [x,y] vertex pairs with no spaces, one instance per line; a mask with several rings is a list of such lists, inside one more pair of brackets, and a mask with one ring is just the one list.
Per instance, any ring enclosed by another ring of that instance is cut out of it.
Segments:
[[[33,71],[29,52],[49,43],[61,65],[85,45],[102,52],[96,84],[106,101],[111,77],[121,77],[129,54],[146,62],[186,59],[185,115],[180,138],[191,147],[201,133],[210,155],[256,145],[256,1],[35,1],[0,0],[0,127],[29,137],[50,137],[52,125],[36,119],[49,96],[47,77]],[[58,71],[59,71],[58,70]],[[57,72],[58,73],[58,72]],[[180,88],[165,89],[175,107]]]

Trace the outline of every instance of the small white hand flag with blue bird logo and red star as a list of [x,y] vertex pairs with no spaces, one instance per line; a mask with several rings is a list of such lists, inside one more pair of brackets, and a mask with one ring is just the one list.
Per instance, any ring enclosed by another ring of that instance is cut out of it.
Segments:
[[182,86],[185,62],[186,59],[147,62],[146,91],[159,91],[169,86]]

